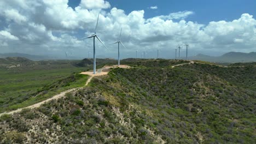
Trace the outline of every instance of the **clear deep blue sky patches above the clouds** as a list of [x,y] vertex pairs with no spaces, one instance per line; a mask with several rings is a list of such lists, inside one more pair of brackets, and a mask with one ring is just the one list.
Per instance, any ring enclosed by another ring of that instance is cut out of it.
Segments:
[[[241,14],[256,14],[256,1],[254,0],[109,0],[112,8],[125,10],[126,14],[133,10],[144,10],[145,18],[158,15],[168,15],[177,11],[193,11],[195,14],[188,17],[187,20],[207,24],[210,21],[232,21],[241,16]],[[80,0],[69,1],[69,5],[77,7]],[[157,6],[158,9],[149,9]]]

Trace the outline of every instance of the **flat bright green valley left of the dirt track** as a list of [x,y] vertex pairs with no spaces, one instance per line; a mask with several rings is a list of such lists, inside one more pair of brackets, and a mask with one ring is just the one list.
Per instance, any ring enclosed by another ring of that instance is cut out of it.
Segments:
[[[38,103],[70,88],[80,87],[88,68],[74,67],[65,61],[25,61],[21,67],[0,67],[0,112]],[[32,63],[32,64],[31,64]]]

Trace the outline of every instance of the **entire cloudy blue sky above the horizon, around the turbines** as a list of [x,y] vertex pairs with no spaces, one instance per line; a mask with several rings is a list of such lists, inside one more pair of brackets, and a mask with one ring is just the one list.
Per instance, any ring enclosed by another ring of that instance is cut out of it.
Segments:
[[[65,58],[86,58],[94,33],[96,57],[173,58],[177,45],[189,44],[189,56],[199,53],[256,51],[256,1],[170,0],[1,0],[0,53],[19,52]],[[92,56],[92,55],[91,55]]]

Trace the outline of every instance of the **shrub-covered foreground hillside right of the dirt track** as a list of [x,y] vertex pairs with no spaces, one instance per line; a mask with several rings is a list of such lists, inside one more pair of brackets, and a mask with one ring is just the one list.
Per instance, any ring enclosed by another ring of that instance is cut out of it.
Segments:
[[[88,87],[38,109],[3,115],[1,142],[256,141],[256,67],[197,63],[171,68],[181,62],[141,63],[94,77]],[[156,67],[156,63],[164,64]]]

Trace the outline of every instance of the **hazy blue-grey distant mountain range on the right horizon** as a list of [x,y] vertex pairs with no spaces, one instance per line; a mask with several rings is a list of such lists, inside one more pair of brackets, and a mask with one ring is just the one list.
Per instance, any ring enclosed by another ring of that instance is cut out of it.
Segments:
[[208,62],[256,62],[256,52],[243,53],[243,52],[228,52],[219,57],[207,56],[203,54],[190,57],[189,59],[196,59]]

